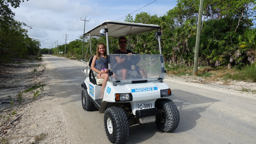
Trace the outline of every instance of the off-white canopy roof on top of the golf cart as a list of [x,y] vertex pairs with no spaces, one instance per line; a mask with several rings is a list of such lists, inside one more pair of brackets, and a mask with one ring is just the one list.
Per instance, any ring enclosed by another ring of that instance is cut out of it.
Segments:
[[84,36],[89,36],[89,34],[91,34],[91,36],[101,36],[100,30],[106,28],[106,25],[108,27],[108,37],[120,37],[140,34],[152,30],[158,30],[161,28],[159,25],[106,20],[100,25],[84,33]]

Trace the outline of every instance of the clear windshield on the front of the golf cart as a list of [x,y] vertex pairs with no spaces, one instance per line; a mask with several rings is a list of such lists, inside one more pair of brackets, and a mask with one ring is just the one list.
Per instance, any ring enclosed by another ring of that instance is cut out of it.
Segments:
[[161,54],[109,54],[109,70],[112,83],[131,83],[137,80],[163,80],[164,61]]

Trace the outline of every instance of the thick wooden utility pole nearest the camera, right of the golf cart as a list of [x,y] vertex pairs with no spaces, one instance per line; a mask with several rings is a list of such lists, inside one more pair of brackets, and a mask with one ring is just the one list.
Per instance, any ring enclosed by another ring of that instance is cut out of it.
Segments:
[[196,31],[196,47],[195,47],[193,76],[197,76],[198,51],[199,51],[200,35],[201,35],[201,27],[200,26],[202,24],[203,6],[204,6],[204,0],[200,0],[198,21],[197,21],[197,31]]

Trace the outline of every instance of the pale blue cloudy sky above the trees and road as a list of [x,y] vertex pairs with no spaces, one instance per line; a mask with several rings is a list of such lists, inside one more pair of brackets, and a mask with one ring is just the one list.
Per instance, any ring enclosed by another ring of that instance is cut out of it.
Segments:
[[160,17],[176,4],[176,0],[24,0],[12,11],[15,20],[32,27],[29,37],[48,49],[57,47],[57,40],[58,45],[65,44],[66,34],[67,43],[79,39],[84,19],[87,32],[106,20],[124,21],[128,14],[134,19],[141,11]]

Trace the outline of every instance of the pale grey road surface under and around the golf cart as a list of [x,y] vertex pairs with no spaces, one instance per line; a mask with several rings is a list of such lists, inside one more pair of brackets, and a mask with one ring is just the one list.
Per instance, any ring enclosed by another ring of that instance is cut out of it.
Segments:
[[[81,72],[85,64],[44,55],[51,87],[56,92],[71,143],[110,143],[103,116],[81,104]],[[172,90],[170,99],[180,111],[180,124],[164,133],[154,123],[133,125],[127,143],[255,143],[256,97],[200,84],[164,79]]]

